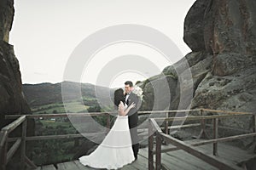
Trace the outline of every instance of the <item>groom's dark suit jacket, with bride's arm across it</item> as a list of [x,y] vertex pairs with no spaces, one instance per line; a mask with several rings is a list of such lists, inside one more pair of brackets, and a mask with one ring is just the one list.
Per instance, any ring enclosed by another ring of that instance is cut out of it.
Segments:
[[129,127],[137,127],[137,122],[138,122],[138,116],[137,116],[137,105],[138,105],[138,97],[136,94],[133,94],[131,92],[130,96],[127,99],[127,105],[131,105],[132,102],[135,103],[135,108],[132,108],[129,112],[128,112],[128,122],[129,122]]

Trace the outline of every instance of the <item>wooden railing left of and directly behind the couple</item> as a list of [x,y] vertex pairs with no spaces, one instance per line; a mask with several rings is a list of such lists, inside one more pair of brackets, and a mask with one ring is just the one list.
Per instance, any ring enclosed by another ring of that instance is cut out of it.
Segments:
[[[138,111],[139,116],[162,113],[163,111]],[[59,134],[47,136],[26,136],[26,120],[32,118],[52,118],[52,117],[67,117],[67,116],[107,116],[107,125],[110,127],[111,115],[115,112],[94,112],[94,113],[63,113],[63,114],[38,114],[38,115],[8,115],[7,119],[16,119],[6,127],[3,127],[0,132],[0,170],[5,170],[8,162],[15,155],[15,152],[20,148],[20,169],[25,168],[25,163],[33,168],[37,166],[26,156],[26,141],[47,140],[47,139],[75,139],[81,137],[90,137],[102,133],[78,133],[78,134]],[[22,126],[20,137],[10,138],[9,133],[13,132],[16,127]],[[9,143],[15,142],[10,148]],[[9,150],[8,150],[9,149]]]

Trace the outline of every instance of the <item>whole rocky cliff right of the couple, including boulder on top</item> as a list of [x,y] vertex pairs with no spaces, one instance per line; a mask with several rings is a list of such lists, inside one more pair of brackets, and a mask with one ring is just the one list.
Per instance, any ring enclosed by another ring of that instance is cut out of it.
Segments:
[[[192,52],[163,71],[172,79],[168,81],[170,87],[176,89],[171,92],[171,110],[256,111],[255,8],[254,0],[197,0],[193,4],[186,15],[183,33]],[[188,62],[189,68],[181,66],[184,62]],[[183,77],[185,71],[191,72],[191,77]],[[152,92],[148,88],[151,79],[144,81],[145,103],[147,93]],[[189,83],[193,88],[188,88]],[[188,89],[193,93],[190,101],[180,99]],[[181,103],[183,107],[179,108]],[[250,117],[221,120],[219,124],[247,130],[252,125]]]

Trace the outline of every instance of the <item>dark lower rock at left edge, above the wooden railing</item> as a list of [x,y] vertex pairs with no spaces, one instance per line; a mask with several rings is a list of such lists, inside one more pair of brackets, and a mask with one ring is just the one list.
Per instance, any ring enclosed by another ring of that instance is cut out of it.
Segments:
[[7,42],[0,42],[0,127],[8,124],[8,114],[30,113],[22,94],[19,62],[14,49]]

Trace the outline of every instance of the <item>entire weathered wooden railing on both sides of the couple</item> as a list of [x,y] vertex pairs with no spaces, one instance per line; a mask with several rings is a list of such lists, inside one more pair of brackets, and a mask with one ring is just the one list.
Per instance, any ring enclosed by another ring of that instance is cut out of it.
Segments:
[[[226,115],[221,115],[221,116],[203,116],[204,111],[209,111],[209,112],[222,112],[226,113]],[[200,116],[185,116],[185,117],[169,117],[169,114],[172,113],[186,113],[189,114],[191,112],[198,112]],[[166,114],[165,117],[158,117],[158,114]],[[143,116],[143,115],[148,115],[150,114],[155,114],[155,118],[148,119],[149,120],[149,127],[148,133],[150,134],[148,137],[148,169],[153,169],[154,168],[154,155],[156,156],[156,164],[155,167],[156,169],[161,168],[161,163],[160,163],[160,153],[164,153],[167,151],[172,151],[172,150],[185,150],[189,153],[191,153],[194,156],[198,156],[204,161],[207,161],[208,163],[212,164],[215,167],[225,167],[224,163],[221,161],[218,161],[215,157],[212,156],[205,156],[201,152],[195,150],[192,148],[192,146],[197,146],[197,145],[202,145],[202,144],[213,144],[213,155],[216,155],[218,153],[218,142],[220,141],[227,141],[227,140],[232,140],[232,139],[241,139],[241,138],[247,138],[249,136],[254,137],[254,142],[256,141],[255,139],[255,134],[256,134],[256,118],[255,115],[252,113],[245,113],[245,112],[232,112],[232,111],[213,111],[213,110],[205,110],[205,109],[197,109],[197,110],[183,110],[183,111],[139,111],[138,115]],[[20,169],[24,169],[25,163],[30,166],[36,168],[33,164],[32,161],[29,160],[29,158],[26,156],[26,141],[31,141],[31,140],[43,140],[43,139],[75,139],[75,138],[81,138],[84,136],[90,136],[90,135],[96,135],[96,133],[86,133],[86,134],[60,134],[60,135],[48,135],[48,136],[26,136],[26,120],[29,118],[39,118],[39,117],[44,117],[44,118],[49,118],[49,117],[67,117],[69,114],[40,114],[40,115],[9,115],[6,116],[8,119],[16,119],[14,122],[10,123],[6,127],[3,127],[1,132],[0,132],[0,170],[5,170],[7,163],[10,161],[12,156],[15,155],[16,150],[20,148],[20,163],[21,167]],[[113,115],[113,112],[98,112],[98,113],[71,113],[72,116],[107,116],[107,127],[110,127],[110,118],[111,115]],[[253,116],[253,133],[247,133],[247,134],[242,134],[242,135],[237,135],[233,137],[226,137],[226,138],[220,138],[218,139],[218,118],[222,117],[229,117],[229,116]],[[213,119],[213,139],[210,140],[204,140],[199,143],[195,144],[184,144],[182,141],[178,141],[177,139],[172,138],[172,136],[168,135],[169,129],[173,128],[183,128],[183,127],[196,127],[196,126],[201,126],[201,133],[200,136],[206,134],[206,123],[205,120],[207,119]],[[185,124],[182,126],[169,126],[169,122],[172,121],[193,121],[193,120],[201,120],[200,123],[193,123],[193,124]],[[159,127],[157,122],[165,122],[163,123],[162,127]],[[10,138],[9,133],[13,132],[16,127],[22,126],[22,133],[20,137],[15,137],[15,138]],[[162,132],[162,129],[165,133]],[[156,139],[156,148],[154,149],[154,137]],[[175,148],[170,148],[166,150],[161,150],[161,144],[162,142],[165,141],[166,143],[171,143],[174,144],[176,147]],[[11,147],[9,147],[9,143],[12,142],[14,143]],[[8,150],[9,149],[9,150]],[[228,167],[228,166],[227,166]],[[164,168],[164,167],[163,167]],[[230,167],[231,168],[231,167]]]

